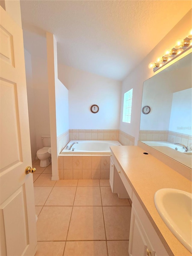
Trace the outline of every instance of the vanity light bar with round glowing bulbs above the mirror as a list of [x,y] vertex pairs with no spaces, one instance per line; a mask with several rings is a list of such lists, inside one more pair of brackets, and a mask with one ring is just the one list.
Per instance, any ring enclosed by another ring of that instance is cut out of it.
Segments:
[[176,58],[179,54],[185,52],[192,46],[192,29],[188,32],[188,35],[184,39],[178,39],[175,47],[165,50],[164,56],[158,57],[155,62],[149,63],[149,68],[153,68],[153,72],[161,68],[172,59]]

